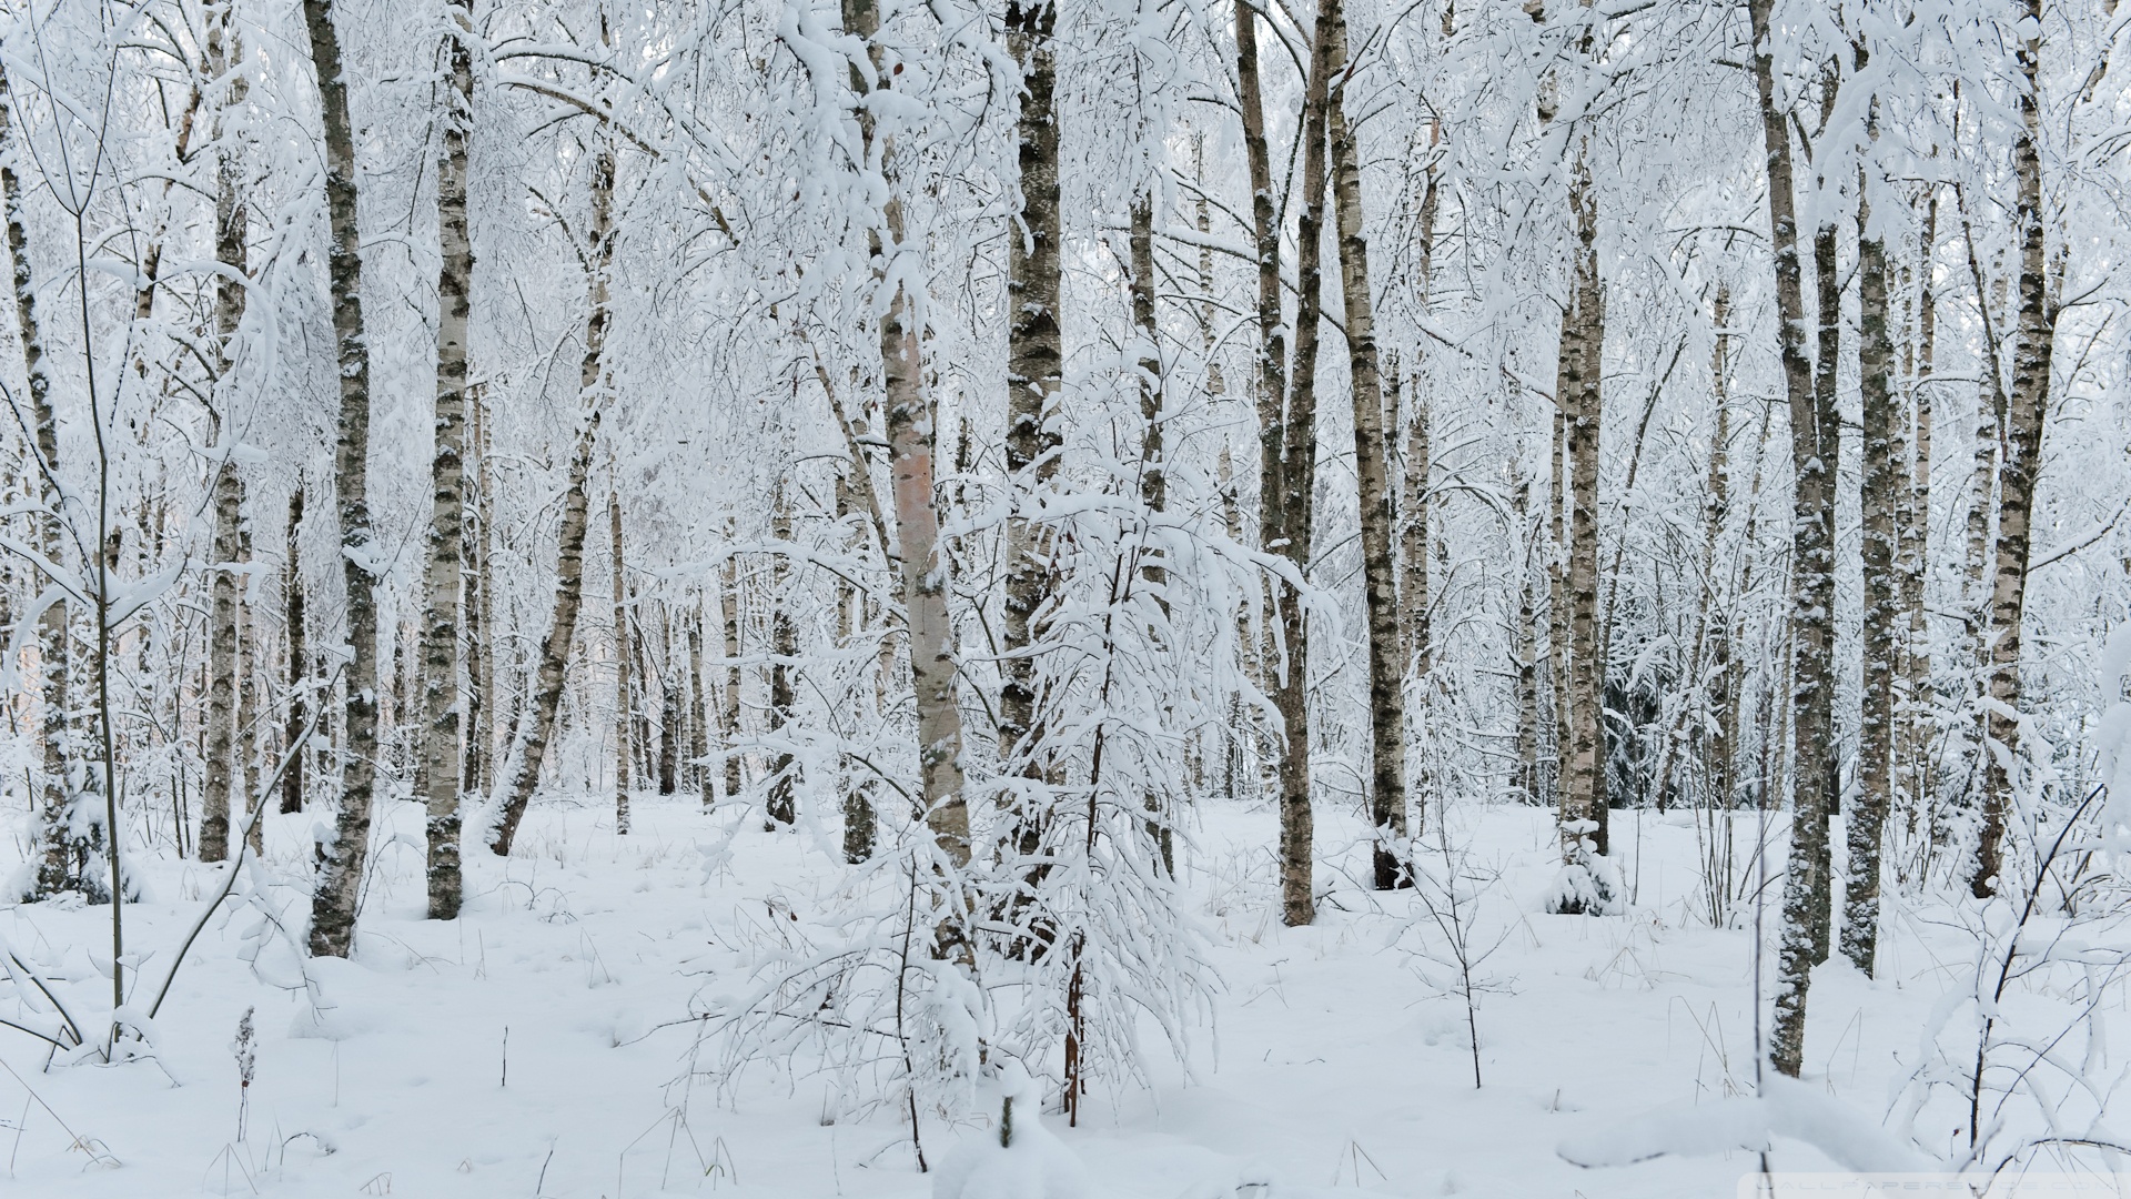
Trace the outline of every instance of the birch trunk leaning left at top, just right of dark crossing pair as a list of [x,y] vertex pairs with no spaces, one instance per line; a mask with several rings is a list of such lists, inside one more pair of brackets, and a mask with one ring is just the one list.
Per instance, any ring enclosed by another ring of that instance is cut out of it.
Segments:
[[[1377,363],[1377,314],[1368,290],[1368,235],[1362,226],[1362,156],[1347,126],[1347,13],[1340,0],[1317,6],[1323,68],[1340,83],[1325,98],[1332,143],[1332,201],[1338,222],[1340,297],[1347,309],[1347,369],[1353,386],[1353,461],[1362,512],[1362,591],[1368,614],[1370,851],[1379,892],[1413,885],[1406,856],[1406,644],[1398,619],[1398,567],[1392,559],[1392,478],[1383,427],[1383,373]],[[1426,467],[1421,467],[1426,474]],[[1426,540],[1426,533],[1424,533]],[[1426,555],[1426,550],[1424,550]],[[1426,561],[1426,557],[1424,557]],[[1409,563],[1411,570],[1411,563]],[[1424,565],[1426,570],[1426,565]],[[1409,574],[1411,578],[1411,574]],[[1426,576],[1424,582],[1426,587]],[[1411,600],[1411,597],[1409,597]]]

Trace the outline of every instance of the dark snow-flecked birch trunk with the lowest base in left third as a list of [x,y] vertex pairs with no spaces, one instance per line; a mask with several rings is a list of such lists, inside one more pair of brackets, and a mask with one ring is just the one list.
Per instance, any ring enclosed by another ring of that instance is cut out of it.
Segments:
[[377,546],[371,535],[371,348],[362,329],[362,230],[356,220],[356,143],[347,79],[335,32],[335,0],[303,0],[318,105],[326,126],[326,222],[332,333],[339,341],[339,442],[332,480],[339,499],[341,578],[347,589],[347,751],[341,760],[341,811],[322,849],[311,900],[311,954],[345,958],[356,939],[356,902],[371,843],[371,792],[377,779]]

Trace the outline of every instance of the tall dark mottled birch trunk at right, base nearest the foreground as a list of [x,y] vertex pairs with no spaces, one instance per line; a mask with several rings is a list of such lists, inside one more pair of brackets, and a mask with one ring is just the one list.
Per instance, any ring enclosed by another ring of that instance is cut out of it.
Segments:
[[[1805,1054],[1805,998],[1813,969],[1816,873],[1828,858],[1828,796],[1835,777],[1831,728],[1831,621],[1833,621],[1833,450],[1835,431],[1822,429],[1813,395],[1813,365],[1805,350],[1805,282],[1799,262],[1799,218],[1790,158],[1790,113],[1777,98],[1769,30],[1773,0],[1747,0],[1754,30],[1754,87],[1760,100],[1762,149],[1769,173],[1769,245],[1775,256],[1775,309],[1784,363],[1784,399],[1790,407],[1792,585],[1794,636],[1792,736],[1799,747],[1790,864],[1784,877],[1784,920],[1775,981],[1775,1028],[1769,1060],[1779,1073],[1799,1075]],[[1833,397],[1828,397],[1833,401]],[[1826,420],[1833,425],[1833,420]]]

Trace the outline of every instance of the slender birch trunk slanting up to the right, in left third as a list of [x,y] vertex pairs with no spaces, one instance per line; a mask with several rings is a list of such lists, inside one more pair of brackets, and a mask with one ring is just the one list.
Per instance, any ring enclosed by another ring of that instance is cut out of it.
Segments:
[[[578,444],[569,454],[569,482],[563,489],[563,527],[554,553],[554,614],[548,619],[548,640],[541,642],[539,670],[533,681],[533,723],[518,753],[518,772],[497,817],[492,847],[509,858],[518,821],[539,787],[541,760],[554,738],[554,715],[563,706],[563,681],[569,674],[569,646],[578,636],[578,612],[584,608],[584,535],[590,516],[592,448],[599,439],[599,414],[612,399],[607,378],[607,324],[614,320],[614,143],[601,137],[592,156],[592,220],[586,233],[590,277],[586,279],[584,361],[578,365],[578,395],[584,416]],[[616,544],[620,540],[616,538]],[[618,574],[618,572],[616,572]],[[514,717],[511,723],[518,723]],[[627,738],[624,742],[627,745]]]

